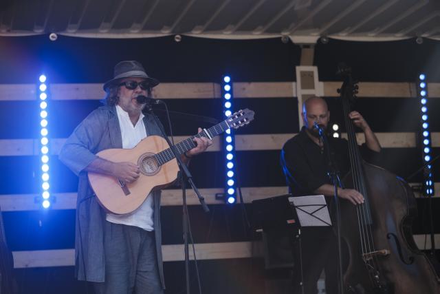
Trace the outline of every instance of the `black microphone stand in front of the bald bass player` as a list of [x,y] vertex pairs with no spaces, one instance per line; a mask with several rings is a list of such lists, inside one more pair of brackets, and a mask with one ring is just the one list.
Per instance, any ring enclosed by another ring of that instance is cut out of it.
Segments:
[[341,213],[339,206],[339,196],[338,196],[338,184],[340,184],[339,171],[331,160],[329,140],[325,135],[324,130],[315,122],[315,128],[318,129],[319,136],[322,139],[324,145],[325,161],[327,163],[327,175],[334,187],[334,201],[336,207],[336,235],[338,237],[338,265],[339,265],[339,293],[344,294],[344,279],[342,274],[342,249],[341,249]]

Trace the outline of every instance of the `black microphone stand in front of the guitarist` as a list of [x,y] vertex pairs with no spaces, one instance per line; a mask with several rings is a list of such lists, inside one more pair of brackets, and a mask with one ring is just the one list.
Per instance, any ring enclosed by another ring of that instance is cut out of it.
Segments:
[[[161,101],[164,103],[163,101]],[[164,103],[165,104],[165,103]],[[170,146],[170,150],[173,152],[174,157],[177,160],[177,164],[179,165],[179,173],[177,176],[180,179],[181,182],[181,188],[182,188],[182,200],[183,200],[183,209],[182,209],[182,218],[183,218],[183,231],[184,231],[184,251],[185,251],[185,277],[186,277],[186,293],[190,293],[190,276],[189,276],[189,250],[188,250],[188,205],[186,204],[186,189],[185,189],[185,182],[188,180],[190,183],[192,189],[195,191],[197,198],[199,198],[199,202],[201,204],[201,207],[203,208],[203,211],[209,212],[208,205],[206,205],[205,198],[203,198],[199,192],[199,189],[195,186],[194,182],[192,181],[192,175],[186,166],[186,164],[181,160],[180,155],[175,149],[175,146],[170,142],[170,139],[168,136],[166,136],[164,129],[161,127],[161,123],[159,121],[159,118],[154,114],[153,107],[151,103],[146,103],[145,108],[148,110],[148,112],[153,116],[156,124],[159,126],[160,131],[162,132],[162,135],[164,136],[164,139]],[[185,180],[186,179],[186,180]]]

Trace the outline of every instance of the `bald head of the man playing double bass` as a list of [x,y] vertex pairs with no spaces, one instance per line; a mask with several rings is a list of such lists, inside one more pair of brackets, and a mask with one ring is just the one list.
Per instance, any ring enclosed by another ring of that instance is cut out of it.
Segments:
[[329,107],[324,99],[313,96],[304,101],[301,116],[307,131],[314,136],[319,136],[314,124],[318,123],[322,129],[327,129],[330,118]]

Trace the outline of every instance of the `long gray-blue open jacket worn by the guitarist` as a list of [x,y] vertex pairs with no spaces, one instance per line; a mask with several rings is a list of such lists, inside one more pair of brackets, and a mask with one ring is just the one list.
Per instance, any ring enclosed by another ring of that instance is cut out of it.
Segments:
[[[160,129],[150,114],[145,114],[146,134],[159,135]],[[101,106],[85,118],[63,145],[59,159],[79,177],[76,201],[75,274],[78,280],[104,282],[104,222],[100,207],[89,185],[85,167],[101,150],[122,148],[122,136],[115,106]],[[154,229],[159,276],[164,284],[162,235],[160,226],[160,191],[153,192]]]

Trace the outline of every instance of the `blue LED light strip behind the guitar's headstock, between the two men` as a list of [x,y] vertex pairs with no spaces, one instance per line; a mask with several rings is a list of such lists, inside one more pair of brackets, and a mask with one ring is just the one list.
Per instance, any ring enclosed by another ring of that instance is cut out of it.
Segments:
[[[221,97],[223,104],[223,116],[227,118],[232,114],[232,81],[230,76],[223,76],[221,82]],[[227,129],[223,136],[225,156],[225,200],[229,204],[236,202],[235,187],[235,138],[233,129]]]

